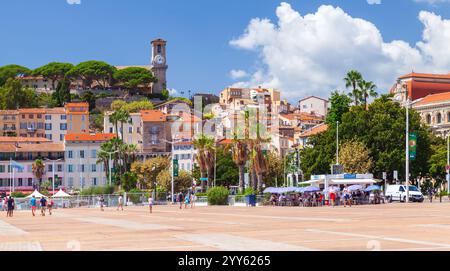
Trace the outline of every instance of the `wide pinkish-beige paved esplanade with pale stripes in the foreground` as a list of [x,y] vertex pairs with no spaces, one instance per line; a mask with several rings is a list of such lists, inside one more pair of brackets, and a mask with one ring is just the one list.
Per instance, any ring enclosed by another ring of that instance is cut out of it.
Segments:
[[3,212],[0,250],[450,250],[450,203],[147,208]]

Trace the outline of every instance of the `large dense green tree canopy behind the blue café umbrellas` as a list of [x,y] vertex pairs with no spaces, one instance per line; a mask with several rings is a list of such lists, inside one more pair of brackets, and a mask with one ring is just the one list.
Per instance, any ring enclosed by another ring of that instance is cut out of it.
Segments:
[[[340,143],[351,140],[362,142],[373,159],[371,172],[381,178],[382,172],[392,176],[398,170],[399,177],[404,178],[405,170],[405,118],[406,110],[398,103],[383,95],[376,99],[365,110],[362,107],[352,107],[342,116],[339,135]],[[428,172],[428,160],[432,155],[431,141],[434,137],[428,127],[420,121],[420,116],[414,110],[410,111],[410,131],[418,135],[417,157],[411,162],[411,177]],[[306,176],[330,172],[330,166],[335,163],[336,127],[311,137],[312,147],[302,151],[302,169]]]

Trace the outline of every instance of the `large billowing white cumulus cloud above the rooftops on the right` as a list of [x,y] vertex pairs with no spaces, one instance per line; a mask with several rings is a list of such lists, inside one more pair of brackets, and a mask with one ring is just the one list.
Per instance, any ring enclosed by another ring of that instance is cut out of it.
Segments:
[[351,69],[374,81],[381,93],[412,70],[450,71],[450,21],[431,12],[420,12],[423,37],[414,45],[385,41],[373,23],[339,7],[323,5],[302,16],[281,3],[276,15],[277,22],[252,19],[244,33],[230,41],[235,48],[255,52],[261,63],[248,80],[234,86],[274,87],[293,100],[311,94],[328,97],[330,91],[344,89],[343,77]]

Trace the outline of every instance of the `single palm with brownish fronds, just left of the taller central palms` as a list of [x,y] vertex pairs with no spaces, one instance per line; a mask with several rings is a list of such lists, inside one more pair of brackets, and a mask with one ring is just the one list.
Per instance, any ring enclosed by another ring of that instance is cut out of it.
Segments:
[[[198,138],[194,139],[194,147],[197,149],[197,163],[200,167],[200,175],[201,178],[205,178],[205,175],[208,175],[208,178],[211,178],[214,172],[214,139],[205,134],[200,134]],[[209,179],[208,179],[208,187],[209,187]],[[205,189],[205,183],[201,182],[202,189]]]

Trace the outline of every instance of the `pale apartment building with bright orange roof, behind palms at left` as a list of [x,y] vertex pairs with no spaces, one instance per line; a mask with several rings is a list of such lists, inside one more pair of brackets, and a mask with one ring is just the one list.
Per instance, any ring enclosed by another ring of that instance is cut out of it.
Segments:
[[97,164],[103,143],[115,134],[67,134],[65,136],[65,183],[68,189],[107,185],[103,164]]

